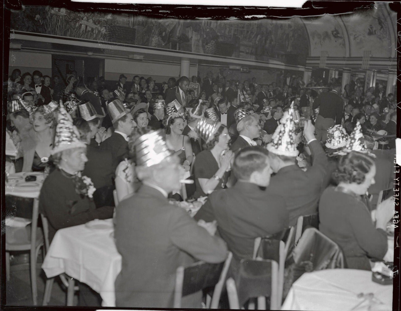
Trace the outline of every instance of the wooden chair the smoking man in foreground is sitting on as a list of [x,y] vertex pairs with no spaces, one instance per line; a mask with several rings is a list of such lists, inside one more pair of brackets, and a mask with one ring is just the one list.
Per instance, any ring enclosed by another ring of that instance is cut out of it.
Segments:
[[209,264],[199,261],[188,267],[178,267],[174,290],[174,308],[181,307],[182,297],[202,289],[214,287],[212,298],[210,299],[210,296],[207,296],[206,307],[207,309],[217,309],[232,258],[233,254],[229,252],[224,263]]

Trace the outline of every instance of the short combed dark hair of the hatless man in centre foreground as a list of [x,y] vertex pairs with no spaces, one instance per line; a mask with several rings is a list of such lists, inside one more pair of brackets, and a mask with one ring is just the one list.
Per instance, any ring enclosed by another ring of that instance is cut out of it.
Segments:
[[268,152],[260,146],[241,149],[235,157],[233,172],[237,179],[249,180],[255,171],[263,171],[269,164]]

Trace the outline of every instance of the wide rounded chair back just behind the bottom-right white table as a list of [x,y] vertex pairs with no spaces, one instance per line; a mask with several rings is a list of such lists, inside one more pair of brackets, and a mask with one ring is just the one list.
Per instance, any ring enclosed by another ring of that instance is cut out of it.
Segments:
[[294,262],[306,271],[344,268],[340,247],[316,228],[307,228],[292,251]]

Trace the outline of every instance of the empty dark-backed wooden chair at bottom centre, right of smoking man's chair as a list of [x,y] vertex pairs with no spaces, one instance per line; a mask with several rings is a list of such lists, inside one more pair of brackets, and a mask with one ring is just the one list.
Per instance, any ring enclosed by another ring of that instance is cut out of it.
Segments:
[[[242,259],[236,280],[227,280],[227,293],[230,309],[241,309],[251,298],[258,297],[258,310],[266,309],[266,297],[273,297],[272,290],[277,286],[273,278],[274,260]],[[270,300],[270,310],[277,310]]]

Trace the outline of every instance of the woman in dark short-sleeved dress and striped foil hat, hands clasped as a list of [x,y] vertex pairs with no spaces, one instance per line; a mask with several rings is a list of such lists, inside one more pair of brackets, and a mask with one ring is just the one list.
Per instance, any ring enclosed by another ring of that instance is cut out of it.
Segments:
[[204,150],[196,155],[194,162],[196,185],[194,197],[198,198],[214,190],[225,188],[233,152],[227,150],[230,136],[227,128],[220,122],[207,118],[201,119],[195,131],[205,142]]

